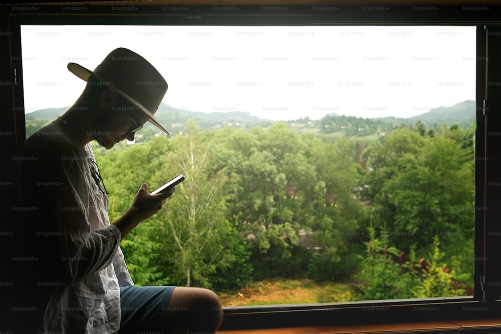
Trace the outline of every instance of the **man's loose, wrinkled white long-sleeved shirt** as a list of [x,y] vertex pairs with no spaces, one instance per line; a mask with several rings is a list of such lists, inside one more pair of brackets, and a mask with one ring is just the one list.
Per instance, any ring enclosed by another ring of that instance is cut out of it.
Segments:
[[90,144],[82,147],[74,133],[57,119],[30,137],[21,149],[25,155],[44,157],[51,179],[39,185],[47,185],[54,203],[44,211],[48,214],[41,213],[38,223],[55,235],[58,254],[52,252],[43,260],[59,262],[62,283],[50,294],[42,331],[118,331],[120,286],[134,283],[119,247],[120,229],[110,225],[108,196],[91,173],[91,167],[97,168],[92,163]]

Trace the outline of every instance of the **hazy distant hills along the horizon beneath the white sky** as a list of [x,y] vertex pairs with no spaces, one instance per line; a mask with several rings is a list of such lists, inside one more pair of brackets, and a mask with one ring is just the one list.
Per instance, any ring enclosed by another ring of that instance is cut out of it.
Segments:
[[[48,108],[37,110],[26,114],[27,135],[40,128],[44,120],[53,120],[57,115],[63,114],[68,109]],[[394,116],[383,118],[362,118],[355,116],[338,115],[336,113],[326,114],[320,120],[310,120],[308,117],[295,121],[287,121],[291,127],[298,131],[314,131],[324,135],[345,135],[346,137],[363,136],[384,136],[396,127],[404,125],[414,125],[417,121],[424,123],[426,128],[438,128],[442,124],[458,125],[459,128],[467,128],[475,124],[476,105],[474,101],[464,101],[450,107],[439,107],[429,110],[421,115],[409,118],[398,118]],[[253,126],[263,128],[269,127],[273,121],[261,119],[252,116],[248,112],[229,111],[203,113],[198,111],[189,111],[177,109],[166,104],[161,104],[155,117],[160,124],[163,124],[171,134],[182,133],[186,122],[194,118],[201,130],[220,129],[226,125],[232,127],[247,129]],[[158,130],[150,123],[146,123],[141,131],[144,137],[153,136]]]

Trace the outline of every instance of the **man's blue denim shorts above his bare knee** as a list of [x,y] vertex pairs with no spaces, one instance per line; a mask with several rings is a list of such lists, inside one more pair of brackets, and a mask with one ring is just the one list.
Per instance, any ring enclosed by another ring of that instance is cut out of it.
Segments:
[[161,331],[162,318],[175,286],[125,286],[120,288],[119,334]]

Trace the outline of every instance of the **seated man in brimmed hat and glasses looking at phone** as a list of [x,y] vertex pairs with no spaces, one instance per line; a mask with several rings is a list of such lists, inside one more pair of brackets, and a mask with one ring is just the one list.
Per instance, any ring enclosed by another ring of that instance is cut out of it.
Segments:
[[[110,224],[108,197],[90,142],[105,148],[134,139],[149,121],[167,83],[144,58],[116,49],[94,70],[70,63],[87,82],[75,104],[40,129],[13,157],[4,300],[16,332],[214,332],[222,318],[217,296],[202,288],[136,287],[119,243],[162,208],[174,190],[149,195],[142,184],[130,208]],[[151,83],[154,83],[151,84]],[[168,134],[168,133],[167,133]]]

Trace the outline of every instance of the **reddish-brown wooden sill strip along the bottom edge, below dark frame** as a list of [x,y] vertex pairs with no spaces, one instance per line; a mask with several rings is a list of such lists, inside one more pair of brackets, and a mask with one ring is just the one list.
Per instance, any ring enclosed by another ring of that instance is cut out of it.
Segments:
[[383,323],[383,324],[364,324],[350,326],[307,326],[307,327],[290,327],[290,328],[264,328],[264,329],[238,329],[238,330],[222,330],[218,334],[245,334],[245,333],[410,333],[410,332],[435,332],[435,331],[464,331],[474,330],[491,330],[501,328],[501,318],[495,319],[471,319],[471,320],[454,320],[454,321],[425,321],[425,322],[405,322],[405,323]]

